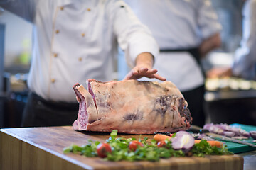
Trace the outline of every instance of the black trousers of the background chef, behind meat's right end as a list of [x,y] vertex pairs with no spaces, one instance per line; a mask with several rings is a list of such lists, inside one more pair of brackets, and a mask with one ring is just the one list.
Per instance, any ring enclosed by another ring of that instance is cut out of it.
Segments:
[[188,108],[193,118],[192,124],[203,127],[206,122],[206,115],[204,113],[204,86],[199,86],[190,91],[181,91],[184,98],[188,102]]

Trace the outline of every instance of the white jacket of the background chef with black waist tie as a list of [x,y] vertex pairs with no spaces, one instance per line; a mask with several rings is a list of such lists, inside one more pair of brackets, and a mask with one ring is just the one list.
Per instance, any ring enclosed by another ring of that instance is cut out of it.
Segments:
[[[127,0],[134,13],[149,27],[160,49],[198,47],[202,40],[221,30],[209,0]],[[188,52],[161,52],[154,68],[178,89],[201,86],[203,74]]]

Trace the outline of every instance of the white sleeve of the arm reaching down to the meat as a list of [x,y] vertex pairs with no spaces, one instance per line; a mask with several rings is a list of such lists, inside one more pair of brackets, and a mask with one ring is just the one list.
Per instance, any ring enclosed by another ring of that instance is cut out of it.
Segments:
[[117,42],[124,50],[127,64],[134,67],[137,55],[150,52],[154,57],[159,54],[159,45],[151,35],[149,28],[144,26],[124,1],[114,1],[114,34]]

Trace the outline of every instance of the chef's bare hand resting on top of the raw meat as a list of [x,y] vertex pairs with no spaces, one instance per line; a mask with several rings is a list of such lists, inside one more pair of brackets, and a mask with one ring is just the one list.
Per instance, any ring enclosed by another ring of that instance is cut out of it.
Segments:
[[142,77],[156,78],[162,81],[166,81],[164,77],[156,74],[157,69],[152,69],[154,63],[154,57],[149,52],[143,52],[136,58],[136,66],[124,77],[127,79],[139,79]]

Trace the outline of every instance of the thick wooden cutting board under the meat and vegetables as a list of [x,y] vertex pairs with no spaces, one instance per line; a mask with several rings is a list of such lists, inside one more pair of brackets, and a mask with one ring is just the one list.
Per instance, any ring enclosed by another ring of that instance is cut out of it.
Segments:
[[[139,135],[118,135],[135,137]],[[9,128],[0,130],[0,169],[243,169],[238,155],[207,157],[171,157],[160,162],[107,162],[98,157],[63,154],[72,144],[85,145],[87,140],[104,142],[110,133],[77,132],[70,126],[51,128]],[[153,135],[142,135],[153,138]]]

